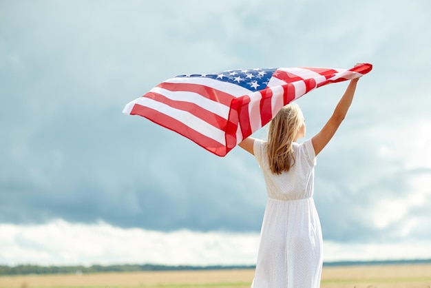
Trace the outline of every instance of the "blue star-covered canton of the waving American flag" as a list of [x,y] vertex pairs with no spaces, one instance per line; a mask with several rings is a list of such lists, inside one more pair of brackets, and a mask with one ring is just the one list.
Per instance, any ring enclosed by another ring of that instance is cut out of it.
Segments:
[[227,70],[213,74],[182,74],[177,77],[204,77],[240,85],[250,91],[263,90],[268,86],[269,79],[276,68],[255,68],[252,70]]

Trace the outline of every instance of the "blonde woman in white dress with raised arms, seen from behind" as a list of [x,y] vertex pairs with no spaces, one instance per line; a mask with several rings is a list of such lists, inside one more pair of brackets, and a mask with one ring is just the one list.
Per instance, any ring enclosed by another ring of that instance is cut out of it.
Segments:
[[[358,78],[359,79],[359,78]],[[358,79],[350,80],[333,115],[313,138],[304,138],[304,116],[296,104],[277,113],[268,141],[246,138],[240,147],[257,159],[269,196],[253,288],[318,288],[322,275],[322,229],[313,201],[316,156],[344,120]]]

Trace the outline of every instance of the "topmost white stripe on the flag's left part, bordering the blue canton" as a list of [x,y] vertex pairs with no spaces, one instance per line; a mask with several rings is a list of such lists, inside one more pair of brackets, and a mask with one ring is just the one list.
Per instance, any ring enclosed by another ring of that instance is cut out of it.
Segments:
[[244,96],[246,94],[253,92],[240,85],[215,80],[212,78],[205,78],[205,77],[176,77],[176,78],[167,79],[165,83],[188,83],[188,84],[205,85],[205,86],[220,90],[222,92],[225,92],[227,94],[231,94],[232,96],[235,96],[235,97]]

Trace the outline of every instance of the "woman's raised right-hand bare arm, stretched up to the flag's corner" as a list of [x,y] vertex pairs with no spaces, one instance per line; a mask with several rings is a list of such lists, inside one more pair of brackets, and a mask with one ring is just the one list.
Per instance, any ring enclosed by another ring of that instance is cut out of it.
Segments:
[[355,95],[358,80],[359,78],[350,80],[346,92],[344,92],[337,107],[335,107],[333,115],[330,116],[330,119],[326,122],[322,130],[311,138],[316,156],[324,149],[326,144],[329,143],[330,139],[333,138],[339,125],[344,120],[344,117],[346,117],[350,104],[353,101],[353,96]]

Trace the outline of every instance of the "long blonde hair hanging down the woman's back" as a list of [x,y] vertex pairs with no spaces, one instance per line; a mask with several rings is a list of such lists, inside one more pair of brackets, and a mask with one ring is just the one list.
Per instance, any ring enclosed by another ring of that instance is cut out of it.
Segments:
[[281,174],[295,164],[292,142],[302,123],[301,109],[291,103],[282,107],[269,124],[268,162],[271,172]]

